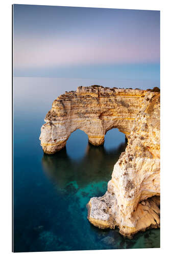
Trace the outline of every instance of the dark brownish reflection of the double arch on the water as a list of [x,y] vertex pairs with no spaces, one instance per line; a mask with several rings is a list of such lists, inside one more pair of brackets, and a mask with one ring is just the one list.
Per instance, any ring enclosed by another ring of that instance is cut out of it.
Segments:
[[[78,187],[87,186],[92,182],[108,181],[111,178],[113,165],[120,153],[125,151],[127,142],[107,151],[103,145],[87,144],[85,155],[79,162],[71,159],[66,147],[55,155],[42,157],[42,165],[46,175],[57,184],[60,189],[70,182],[76,182]],[[94,191],[95,195],[95,191]]]

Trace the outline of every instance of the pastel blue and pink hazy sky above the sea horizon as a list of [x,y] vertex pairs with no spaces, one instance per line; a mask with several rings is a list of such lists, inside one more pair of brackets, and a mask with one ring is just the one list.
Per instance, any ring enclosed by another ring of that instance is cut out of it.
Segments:
[[155,79],[160,12],[13,6],[14,76]]

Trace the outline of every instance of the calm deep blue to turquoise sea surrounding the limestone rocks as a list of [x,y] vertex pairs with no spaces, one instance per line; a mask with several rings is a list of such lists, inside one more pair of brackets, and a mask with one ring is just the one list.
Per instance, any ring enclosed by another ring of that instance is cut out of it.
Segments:
[[113,166],[125,151],[123,133],[113,129],[104,146],[95,147],[77,130],[62,151],[43,154],[40,128],[63,90],[68,90],[67,83],[61,88],[51,80],[14,80],[14,251],[160,247],[159,229],[129,240],[117,229],[100,230],[87,220],[86,204],[91,197],[104,195]]

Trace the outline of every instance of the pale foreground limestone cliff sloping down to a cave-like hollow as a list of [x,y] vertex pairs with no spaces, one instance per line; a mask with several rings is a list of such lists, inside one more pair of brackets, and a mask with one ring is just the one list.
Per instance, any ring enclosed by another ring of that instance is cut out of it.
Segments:
[[160,94],[150,93],[137,115],[126,151],[114,165],[103,197],[91,198],[88,220],[100,228],[119,228],[132,238],[160,226]]

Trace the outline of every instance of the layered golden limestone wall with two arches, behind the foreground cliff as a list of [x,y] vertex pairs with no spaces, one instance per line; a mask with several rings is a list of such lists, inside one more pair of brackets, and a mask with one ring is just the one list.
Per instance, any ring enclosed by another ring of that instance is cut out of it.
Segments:
[[61,150],[77,129],[88,135],[93,145],[104,143],[108,130],[118,128],[127,137],[144,104],[147,91],[78,87],[54,100],[41,127],[41,146],[47,154]]

